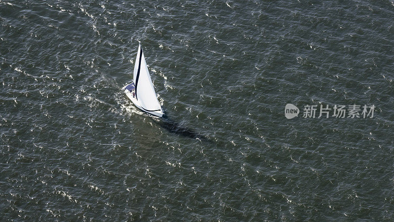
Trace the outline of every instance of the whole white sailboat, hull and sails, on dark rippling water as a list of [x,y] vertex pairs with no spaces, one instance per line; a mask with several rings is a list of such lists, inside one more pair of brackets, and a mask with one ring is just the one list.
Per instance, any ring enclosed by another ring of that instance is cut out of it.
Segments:
[[138,109],[157,117],[163,116],[164,112],[157,99],[141,44],[138,45],[133,80],[126,83],[122,90]]

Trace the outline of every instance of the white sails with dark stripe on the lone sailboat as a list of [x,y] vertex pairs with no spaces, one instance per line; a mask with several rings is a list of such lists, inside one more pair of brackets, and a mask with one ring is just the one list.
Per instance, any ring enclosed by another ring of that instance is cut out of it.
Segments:
[[141,107],[145,111],[162,111],[156,97],[155,88],[153,87],[141,45],[138,46],[137,58],[135,59],[133,80],[136,99]]

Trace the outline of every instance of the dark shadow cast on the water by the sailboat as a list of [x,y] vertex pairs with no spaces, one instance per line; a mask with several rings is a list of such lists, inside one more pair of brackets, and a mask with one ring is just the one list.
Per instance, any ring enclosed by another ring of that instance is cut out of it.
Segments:
[[158,125],[166,129],[168,132],[177,134],[184,137],[189,137],[193,139],[208,140],[204,135],[198,134],[196,131],[183,126],[170,119],[165,113],[161,118],[152,118]]

